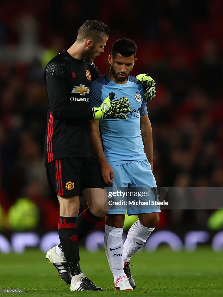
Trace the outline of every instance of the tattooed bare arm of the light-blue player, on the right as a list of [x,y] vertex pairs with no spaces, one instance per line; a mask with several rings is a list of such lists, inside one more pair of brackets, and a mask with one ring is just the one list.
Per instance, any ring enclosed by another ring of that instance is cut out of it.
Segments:
[[152,126],[147,114],[140,117],[140,130],[146,157],[153,170],[153,135]]

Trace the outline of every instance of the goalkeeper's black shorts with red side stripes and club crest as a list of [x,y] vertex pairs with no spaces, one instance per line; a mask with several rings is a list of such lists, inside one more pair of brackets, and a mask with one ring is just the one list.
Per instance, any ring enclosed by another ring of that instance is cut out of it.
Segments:
[[51,197],[75,197],[86,188],[104,189],[101,169],[95,157],[56,159],[46,164]]

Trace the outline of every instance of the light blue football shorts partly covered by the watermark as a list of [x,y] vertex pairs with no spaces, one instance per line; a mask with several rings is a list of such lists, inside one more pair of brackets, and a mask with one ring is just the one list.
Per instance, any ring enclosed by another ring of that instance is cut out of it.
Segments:
[[108,214],[136,215],[160,212],[156,180],[147,160],[111,166],[114,185],[107,187]]

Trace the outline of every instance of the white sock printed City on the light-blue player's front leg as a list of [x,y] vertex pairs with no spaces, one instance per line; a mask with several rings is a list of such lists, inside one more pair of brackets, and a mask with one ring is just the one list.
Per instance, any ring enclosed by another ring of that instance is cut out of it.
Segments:
[[123,270],[123,228],[114,228],[105,225],[104,248],[108,258],[111,272],[114,276],[114,283],[117,278],[127,277]]

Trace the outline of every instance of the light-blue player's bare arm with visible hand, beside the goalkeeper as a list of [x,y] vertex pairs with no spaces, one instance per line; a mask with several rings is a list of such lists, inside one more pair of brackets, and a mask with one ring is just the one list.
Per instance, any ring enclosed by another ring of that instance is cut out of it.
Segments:
[[91,146],[93,148],[94,155],[98,160],[98,163],[101,167],[101,175],[106,184],[114,184],[113,170],[108,164],[101,143],[101,136],[99,131],[99,121],[90,121],[90,135],[91,135]]

